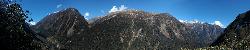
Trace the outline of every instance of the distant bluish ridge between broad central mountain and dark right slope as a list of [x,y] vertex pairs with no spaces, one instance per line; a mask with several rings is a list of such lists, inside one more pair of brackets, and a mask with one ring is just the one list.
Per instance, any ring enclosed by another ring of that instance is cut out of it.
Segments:
[[218,25],[211,25],[208,23],[184,24],[193,33],[190,34],[192,34],[192,39],[195,39],[194,41],[198,47],[206,47],[211,45],[224,30],[224,28],[221,28]]

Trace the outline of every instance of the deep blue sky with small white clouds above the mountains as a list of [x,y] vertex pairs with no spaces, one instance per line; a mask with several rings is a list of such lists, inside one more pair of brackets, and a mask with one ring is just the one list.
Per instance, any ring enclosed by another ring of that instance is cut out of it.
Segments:
[[[116,6],[127,9],[144,10],[153,13],[170,13],[178,20],[198,20],[220,23],[223,27],[235,17],[250,10],[250,0],[21,0],[25,10],[29,10],[34,22],[49,13],[68,7],[76,8],[85,18],[104,16]],[[86,14],[86,15],[85,15]]]

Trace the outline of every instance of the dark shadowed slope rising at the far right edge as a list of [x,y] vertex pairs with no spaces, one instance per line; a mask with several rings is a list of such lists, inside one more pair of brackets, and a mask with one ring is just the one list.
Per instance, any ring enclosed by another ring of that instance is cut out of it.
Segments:
[[232,48],[250,46],[250,11],[242,13],[225,29],[224,34],[213,45],[225,45]]

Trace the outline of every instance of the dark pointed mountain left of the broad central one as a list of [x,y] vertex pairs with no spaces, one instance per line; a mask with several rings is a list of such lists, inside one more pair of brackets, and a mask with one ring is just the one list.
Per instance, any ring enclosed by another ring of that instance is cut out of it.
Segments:
[[59,49],[83,48],[83,32],[87,31],[88,23],[74,8],[68,8],[50,14],[34,26],[39,35],[47,38],[49,43]]

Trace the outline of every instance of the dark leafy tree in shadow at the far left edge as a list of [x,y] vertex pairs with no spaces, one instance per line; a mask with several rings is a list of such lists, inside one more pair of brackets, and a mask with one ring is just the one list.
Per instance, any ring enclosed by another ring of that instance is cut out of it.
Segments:
[[34,34],[25,22],[27,12],[19,4],[0,1],[0,48],[7,50],[36,50]]

